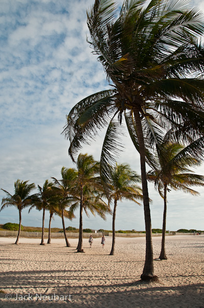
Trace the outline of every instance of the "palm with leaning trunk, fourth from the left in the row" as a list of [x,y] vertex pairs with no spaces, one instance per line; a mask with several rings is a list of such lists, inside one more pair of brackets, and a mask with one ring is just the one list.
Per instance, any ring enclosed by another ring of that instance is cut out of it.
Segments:
[[56,202],[57,205],[57,211],[62,216],[62,222],[63,222],[63,231],[65,235],[65,241],[67,247],[70,247],[70,243],[68,241],[67,235],[66,235],[66,228],[65,228],[65,220],[64,217],[66,216],[70,220],[74,217],[73,213],[71,211],[67,211],[66,207],[70,206],[72,203],[75,202],[74,198],[72,197],[74,194],[75,186],[76,186],[76,179],[77,179],[77,171],[74,168],[65,168],[63,167],[61,170],[62,180],[57,180],[55,178],[52,178],[54,180],[54,183],[56,185],[55,191],[56,191]]

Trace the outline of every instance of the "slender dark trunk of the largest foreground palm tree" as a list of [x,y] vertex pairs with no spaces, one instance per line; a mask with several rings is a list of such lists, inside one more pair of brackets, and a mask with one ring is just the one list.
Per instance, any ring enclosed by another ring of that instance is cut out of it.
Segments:
[[148,194],[147,175],[145,166],[145,143],[144,143],[144,135],[142,132],[140,114],[138,109],[135,110],[134,116],[135,116],[137,137],[139,142],[141,182],[142,182],[142,194],[144,201],[145,229],[146,229],[145,266],[140,278],[142,280],[157,280],[157,276],[154,275],[154,264],[153,264],[152,226],[151,226],[149,194]]

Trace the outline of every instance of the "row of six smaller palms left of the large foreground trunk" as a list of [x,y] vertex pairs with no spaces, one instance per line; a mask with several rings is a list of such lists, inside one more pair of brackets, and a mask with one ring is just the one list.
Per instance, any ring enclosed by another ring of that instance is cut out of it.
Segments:
[[[28,206],[29,212],[32,208],[43,210],[42,240],[40,245],[44,245],[44,224],[45,211],[50,211],[48,244],[51,242],[51,220],[54,214],[62,217],[63,231],[66,245],[70,247],[67,238],[64,218],[72,220],[74,211],[79,207],[79,240],[77,252],[84,252],[83,249],[83,210],[89,216],[89,211],[93,215],[98,214],[106,219],[106,214],[111,214],[111,202],[114,201],[113,211],[113,241],[110,255],[114,254],[115,247],[115,215],[117,201],[125,198],[137,203],[137,199],[142,199],[141,188],[136,185],[140,177],[131,170],[127,164],[116,164],[109,166],[109,190],[108,204],[104,201],[105,190],[99,176],[100,165],[93,159],[92,155],[79,154],[75,168],[65,168],[61,170],[62,179],[53,181],[46,180],[43,187],[38,185],[38,192],[31,195],[35,184],[28,184],[28,181],[17,180],[14,184],[15,193],[11,195],[2,189],[7,197],[2,199],[1,210],[7,206],[15,206],[19,212],[19,228],[15,244],[19,242],[22,225],[22,210]],[[0,211],[1,211],[0,210]]]

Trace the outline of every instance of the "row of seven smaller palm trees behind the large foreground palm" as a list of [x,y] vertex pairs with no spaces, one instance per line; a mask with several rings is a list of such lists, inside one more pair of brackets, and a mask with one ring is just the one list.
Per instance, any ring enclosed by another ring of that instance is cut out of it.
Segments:
[[[193,142],[188,147],[183,147],[177,143],[162,143],[162,151],[157,153],[154,162],[157,162],[153,169],[148,171],[147,178],[154,182],[155,188],[158,190],[160,196],[164,199],[164,217],[162,226],[162,242],[161,252],[159,258],[167,259],[165,251],[165,234],[166,234],[166,215],[167,215],[167,191],[170,188],[175,190],[181,189],[184,192],[190,192],[192,195],[197,195],[198,192],[189,186],[203,186],[204,177],[192,173],[189,167],[199,166],[201,161],[195,158],[197,146]],[[194,156],[189,153],[194,150]],[[63,231],[65,235],[66,245],[70,247],[66,235],[64,218],[72,220],[75,209],[80,207],[79,217],[79,241],[77,245],[77,252],[84,252],[83,249],[83,221],[82,213],[85,210],[87,216],[88,210],[93,215],[99,214],[100,217],[106,219],[107,213],[112,213],[111,204],[113,203],[113,222],[112,222],[112,248],[110,255],[114,255],[115,250],[115,218],[117,202],[123,199],[134,201],[139,204],[137,200],[142,200],[142,190],[138,183],[141,182],[140,176],[131,170],[128,164],[109,165],[109,177],[107,182],[106,197],[108,204],[105,203],[105,190],[101,184],[99,177],[99,163],[94,161],[92,156],[88,154],[80,154],[77,159],[77,170],[74,168],[65,168],[61,170],[62,179],[57,180],[52,178],[52,181],[46,180],[43,187],[38,185],[38,193],[30,195],[35,188],[35,184],[28,184],[28,181],[21,182],[17,180],[14,184],[15,194],[11,195],[6,192],[7,197],[2,200],[2,209],[6,206],[14,205],[19,211],[19,229],[15,244],[18,244],[22,224],[22,209],[30,206],[29,212],[32,208],[43,210],[43,227],[42,240],[40,245],[44,245],[44,222],[45,211],[50,211],[49,219],[49,235],[48,244],[51,243],[51,220],[54,214],[62,217]],[[108,170],[108,169],[107,169]],[[67,210],[68,209],[68,210]],[[0,211],[1,211],[0,210]]]

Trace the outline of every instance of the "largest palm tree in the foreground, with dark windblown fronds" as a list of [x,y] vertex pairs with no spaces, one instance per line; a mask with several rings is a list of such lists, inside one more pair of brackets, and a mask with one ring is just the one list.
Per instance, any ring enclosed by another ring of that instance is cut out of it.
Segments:
[[140,154],[146,225],[141,279],[156,280],[146,162],[164,130],[171,128],[169,138],[185,141],[202,134],[204,52],[197,37],[204,32],[203,19],[200,11],[191,10],[182,0],[152,0],[149,4],[126,0],[117,14],[114,0],[95,0],[87,12],[89,43],[112,88],[77,103],[67,117],[64,134],[74,160],[81,143],[89,143],[97,129],[108,125],[100,159],[105,185],[107,164],[118,151],[120,124],[125,118]]

